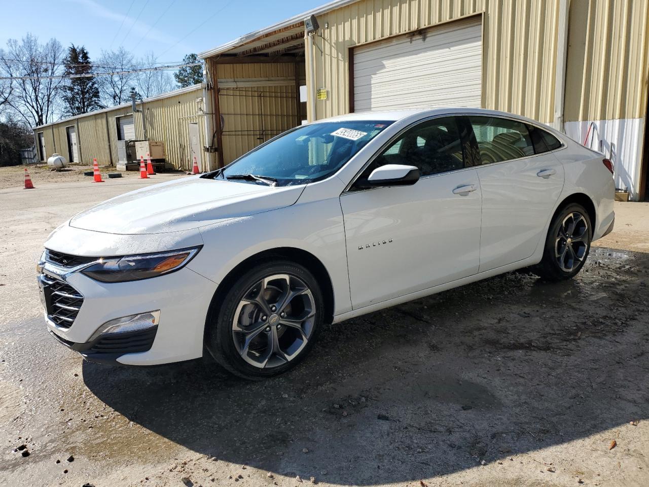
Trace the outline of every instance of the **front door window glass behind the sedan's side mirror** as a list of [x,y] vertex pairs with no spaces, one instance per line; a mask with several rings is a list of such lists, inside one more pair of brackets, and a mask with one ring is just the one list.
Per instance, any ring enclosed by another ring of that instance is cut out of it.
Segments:
[[363,177],[385,164],[415,166],[421,176],[464,167],[463,145],[454,117],[427,120],[404,132],[363,171]]

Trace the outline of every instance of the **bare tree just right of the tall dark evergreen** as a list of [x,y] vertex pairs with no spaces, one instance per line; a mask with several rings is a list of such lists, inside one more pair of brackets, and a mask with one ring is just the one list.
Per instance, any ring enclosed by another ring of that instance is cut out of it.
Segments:
[[[134,69],[133,55],[123,47],[117,51],[101,51],[97,60],[101,71],[127,71]],[[97,77],[99,98],[103,106],[121,105],[130,100],[130,88],[138,81],[138,73],[122,73]]]

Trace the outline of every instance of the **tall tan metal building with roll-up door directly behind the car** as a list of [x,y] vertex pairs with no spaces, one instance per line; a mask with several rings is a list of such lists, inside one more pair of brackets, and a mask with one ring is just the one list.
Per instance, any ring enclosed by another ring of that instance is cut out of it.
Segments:
[[480,106],[601,150],[645,195],[649,0],[336,0],[199,56],[210,167],[302,118]]

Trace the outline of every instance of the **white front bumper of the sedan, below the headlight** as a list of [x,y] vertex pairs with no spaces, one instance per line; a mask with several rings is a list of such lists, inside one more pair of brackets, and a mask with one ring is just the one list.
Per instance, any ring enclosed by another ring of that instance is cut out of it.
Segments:
[[[199,358],[203,351],[205,317],[216,284],[191,269],[132,282],[98,282],[80,272],[65,274],[44,264],[39,280],[57,279],[83,299],[71,323],[45,312],[48,331],[66,347],[93,362],[156,365]],[[43,305],[46,298],[43,297]],[[155,327],[136,332],[95,332],[106,322],[160,310]],[[69,326],[67,326],[69,325]]]

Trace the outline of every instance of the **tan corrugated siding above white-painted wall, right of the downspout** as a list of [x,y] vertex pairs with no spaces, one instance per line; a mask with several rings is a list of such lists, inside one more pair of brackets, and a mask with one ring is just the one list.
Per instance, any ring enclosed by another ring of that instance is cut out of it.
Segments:
[[566,121],[645,116],[648,30],[649,0],[572,1]]

